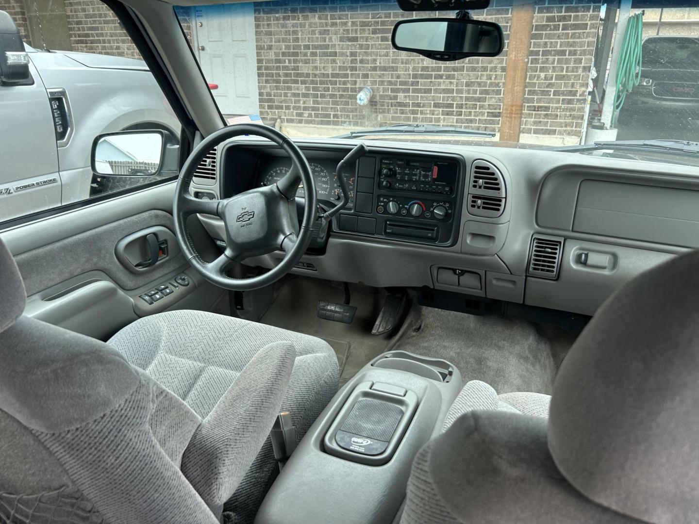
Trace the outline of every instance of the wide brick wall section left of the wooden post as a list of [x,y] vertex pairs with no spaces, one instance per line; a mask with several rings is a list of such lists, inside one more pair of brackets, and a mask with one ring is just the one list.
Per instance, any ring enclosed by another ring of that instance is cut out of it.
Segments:
[[[435,62],[391,48],[392,0],[255,5],[260,112],[284,123],[367,126],[424,122],[497,131],[505,81],[500,57]],[[503,24],[510,7],[474,13]],[[434,13],[421,13],[423,16]],[[361,107],[356,94],[373,89]]]

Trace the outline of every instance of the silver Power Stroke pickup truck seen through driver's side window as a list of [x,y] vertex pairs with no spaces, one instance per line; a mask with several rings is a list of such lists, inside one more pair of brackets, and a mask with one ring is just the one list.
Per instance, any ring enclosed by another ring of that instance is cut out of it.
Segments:
[[[26,71],[0,75],[0,221],[154,178],[94,175],[90,152],[102,133],[161,129],[178,146],[180,124],[144,61],[31,48],[4,11],[0,55],[7,71]],[[34,147],[49,142],[56,147]]]

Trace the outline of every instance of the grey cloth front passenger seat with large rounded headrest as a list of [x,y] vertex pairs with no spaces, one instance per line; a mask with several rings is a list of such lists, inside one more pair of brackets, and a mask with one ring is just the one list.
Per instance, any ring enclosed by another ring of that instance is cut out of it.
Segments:
[[679,256],[600,307],[548,419],[498,411],[543,414],[545,398],[471,386],[459,409],[472,410],[419,452],[401,522],[696,522],[698,268],[699,252]]

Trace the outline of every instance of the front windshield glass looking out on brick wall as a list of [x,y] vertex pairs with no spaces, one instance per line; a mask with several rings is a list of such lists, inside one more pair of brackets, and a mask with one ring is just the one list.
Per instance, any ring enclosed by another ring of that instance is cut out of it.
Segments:
[[229,123],[252,120],[292,137],[356,138],[360,131],[362,140],[507,146],[697,140],[699,76],[686,71],[699,59],[696,9],[614,6],[552,0],[473,11],[500,25],[505,49],[457,61],[394,49],[396,22],[456,14],[405,13],[394,0],[275,0],[176,12]]

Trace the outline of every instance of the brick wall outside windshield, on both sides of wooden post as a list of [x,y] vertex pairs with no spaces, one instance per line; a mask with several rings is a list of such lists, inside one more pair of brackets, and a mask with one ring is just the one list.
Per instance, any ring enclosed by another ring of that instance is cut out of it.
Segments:
[[[579,136],[582,129],[599,4],[575,1],[544,0],[535,7],[523,134]],[[503,26],[503,54],[440,63],[391,48],[393,25],[412,17],[392,0],[259,3],[260,112],[287,124],[424,122],[497,132],[511,2],[493,4],[473,15]],[[355,99],[365,85],[374,92],[369,108]]]

